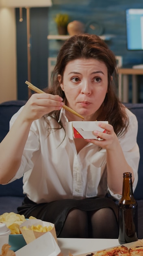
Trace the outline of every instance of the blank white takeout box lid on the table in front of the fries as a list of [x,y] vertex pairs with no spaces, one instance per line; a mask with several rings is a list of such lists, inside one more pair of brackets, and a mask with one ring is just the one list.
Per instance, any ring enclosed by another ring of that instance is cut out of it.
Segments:
[[60,254],[61,249],[50,231],[15,252],[16,256],[60,256]]

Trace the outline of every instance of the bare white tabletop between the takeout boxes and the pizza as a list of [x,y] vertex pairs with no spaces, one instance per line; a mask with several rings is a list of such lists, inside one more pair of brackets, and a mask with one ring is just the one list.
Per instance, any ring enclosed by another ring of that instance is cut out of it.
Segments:
[[83,254],[119,245],[118,239],[100,238],[57,238],[63,256]]

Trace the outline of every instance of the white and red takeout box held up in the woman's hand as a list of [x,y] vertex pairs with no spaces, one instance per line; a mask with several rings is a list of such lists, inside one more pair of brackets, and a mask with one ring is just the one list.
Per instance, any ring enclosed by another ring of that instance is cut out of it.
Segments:
[[108,121],[71,121],[65,123],[65,129],[69,139],[83,138],[102,140],[98,135],[94,134],[94,130],[106,132],[106,130],[98,126],[98,123],[108,124]]

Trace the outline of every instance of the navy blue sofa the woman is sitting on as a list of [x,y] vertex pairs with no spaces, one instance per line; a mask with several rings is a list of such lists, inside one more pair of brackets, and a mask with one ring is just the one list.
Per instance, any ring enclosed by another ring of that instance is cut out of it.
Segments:
[[[25,103],[26,101],[17,100],[0,104],[0,141],[9,131],[11,116]],[[143,103],[126,103],[125,105],[136,115],[139,124],[137,142],[141,158],[139,162],[139,180],[134,197],[138,203],[138,237],[143,238]],[[7,185],[0,185],[0,214],[11,211],[17,212],[17,206],[21,205],[24,198],[22,185],[22,178]]]

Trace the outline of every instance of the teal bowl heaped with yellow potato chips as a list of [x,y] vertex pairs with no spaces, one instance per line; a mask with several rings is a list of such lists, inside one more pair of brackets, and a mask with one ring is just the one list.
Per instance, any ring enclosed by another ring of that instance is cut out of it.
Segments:
[[17,213],[10,212],[0,215],[0,222],[5,223],[11,231],[9,245],[14,252],[26,245],[26,241],[20,231],[20,225],[24,221],[26,221],[25,216]]

